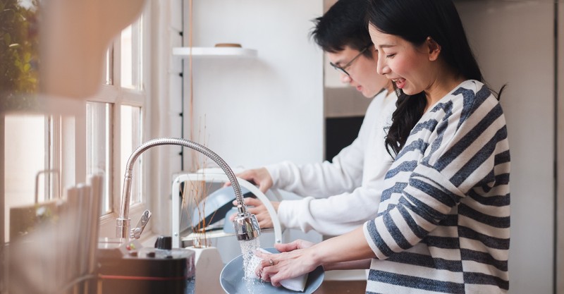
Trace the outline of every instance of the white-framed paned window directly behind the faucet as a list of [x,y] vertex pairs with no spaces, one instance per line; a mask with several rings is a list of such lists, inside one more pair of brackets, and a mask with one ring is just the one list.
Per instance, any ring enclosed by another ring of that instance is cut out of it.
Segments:
[[[87,102],[87,172],[104,173],[101,237],[115,237],[123,176],[130,154],[142,143],[145,111],[144,17],[126,27],[106,51],[102,91]],[[143,156],[135,161],[130,218],[145,210]]]

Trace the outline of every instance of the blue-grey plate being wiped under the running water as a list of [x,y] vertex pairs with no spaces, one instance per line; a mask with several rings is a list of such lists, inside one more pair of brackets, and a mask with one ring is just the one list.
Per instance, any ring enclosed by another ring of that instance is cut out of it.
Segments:
[[[276,248],[264,248],[272,253],[280,253]],[[225,267],[221,270],[221,275],[219,276],[219,281],[221,283],[221,288],[228,294],[280,294],[280,293],[305,293],[311,294],[323,282],[325,272],[323,267],[317,267],[314,271],[310,272],[307,276],[307,282],[305,284],[305,289],[303,292],[293,291],[286,289],[284,287],[274,287],[270,282],[263,282],[259,279],[254,281],[244,281],[243,277],[245,273],[243,271],[243,255],[235,257],[231,262],[228,262]]]

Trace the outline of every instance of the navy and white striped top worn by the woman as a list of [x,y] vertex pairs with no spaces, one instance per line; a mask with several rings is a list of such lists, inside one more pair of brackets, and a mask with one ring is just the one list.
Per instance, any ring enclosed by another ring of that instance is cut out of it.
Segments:
[[367,293],[507,293],[510,157],[503,111],[467,80],[421,118],[364,235]]

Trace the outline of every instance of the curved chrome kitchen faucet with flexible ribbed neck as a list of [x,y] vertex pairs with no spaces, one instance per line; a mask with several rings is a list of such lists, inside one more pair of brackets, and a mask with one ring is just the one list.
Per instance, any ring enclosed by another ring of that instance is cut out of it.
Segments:
[[[238,214],[233,220],[233,226],[235,226],[235,235],[237,236],[237,240],[253,240],[259,237],[260,235],[260,228],[259,222],[257,221],[257,217],[254,214],[251,214],[247,211],[247,206],[245,202],[243,202],[243,192],[241,192],[241,188],[237,178],[235,178],[235,173],[231,170],[231,168],[226,164],[221,157],[219,157],[215,152],[204,147],[203,145],[197,144],[195,142],[181,139],[181,138],[174,138],[174,137],[164,137],[164,138],[157,138],[153,140],[149,140],[140,147],[137,147],[135,151],[130,155],[126,169],[125,169],[125,176],[123,179],[123,193],[121,199],[121,210],[120,216],[116,219],[116,237],[117,238],[125,238],[126,241],[128,238],[139,238],[140,231],[139,228],[133,228],[130,230],[130,219],[129,219],[129,202],[131,197],[131,181],[133,178],[133,164],[135,164],[135,160],[139,157],[143,152],[147,149],[150,149],[155,146],[160,145],[180,145],[184,147],[188,147],[190,149],[194,149],[197,152],[200,152],[210,159],[212,159],[219,167],[226,173],[228,180],[231,182],[231,186],[233,190],[235,190],[235,198],[237,200],[237,210]],[[145,214],[144,214],[145,215]],[[150,217],[150,212],[149,212]],[[143,225],[145,227],[145,225]],[[142,228],[141,228],[142,231]]]

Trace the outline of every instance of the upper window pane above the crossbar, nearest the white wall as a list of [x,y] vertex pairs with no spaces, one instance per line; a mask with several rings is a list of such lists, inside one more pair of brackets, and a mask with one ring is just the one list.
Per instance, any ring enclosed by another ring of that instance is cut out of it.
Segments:
[[143,18],[121,32],[121,87],[142,90]]

